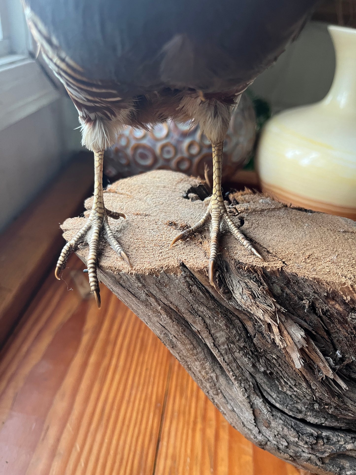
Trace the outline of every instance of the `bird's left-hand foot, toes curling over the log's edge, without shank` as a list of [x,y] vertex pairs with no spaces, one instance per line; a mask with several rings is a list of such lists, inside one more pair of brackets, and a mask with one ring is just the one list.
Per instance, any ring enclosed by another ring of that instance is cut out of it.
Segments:
[[58,280],[60,280],[60,272],[66,265],[66,260],[72,252],[78,248],[80,244],[86,242],[89,244],[89,253],[87,257],[87,272],[89,275],[89,284],[90,288],[94,294],[98,308],[100,308],[100,289],[99,281],[97,277],[97,264],[98,264],[98,247],[99,247],[99,236],[100,232],[103,230],[107,242],[110,244],[112,249],[117,252],[117,254],[122,257],[124,261],[131,267],[131,263],[126,253],[115,239],[112,229],[109,226],[108,217],[113,219],[126,218],[124,214],[118,213],[116,211],[110,211],[108,209],[92,209],[89,215],[88,220],[80,231],[77,232],[75,237],[66,243],[66,246],[63,247],[61,255],[57,261],[55,275]]

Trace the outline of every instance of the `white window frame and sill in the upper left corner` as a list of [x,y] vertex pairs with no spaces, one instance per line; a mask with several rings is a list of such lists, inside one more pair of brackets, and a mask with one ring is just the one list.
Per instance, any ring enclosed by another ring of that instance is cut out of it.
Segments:
[[[36,47],[20,0],[0,0],[0,131],[60,97],[33,59]],[[32,57],[30,57],[30,53]]]

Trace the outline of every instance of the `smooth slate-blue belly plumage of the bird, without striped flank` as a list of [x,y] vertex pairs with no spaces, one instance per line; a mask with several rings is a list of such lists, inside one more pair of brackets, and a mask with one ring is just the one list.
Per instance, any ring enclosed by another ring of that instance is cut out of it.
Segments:
[[123,99],[164,87],[231,90],[269,66],[313,0],[26,0],[88,79]]

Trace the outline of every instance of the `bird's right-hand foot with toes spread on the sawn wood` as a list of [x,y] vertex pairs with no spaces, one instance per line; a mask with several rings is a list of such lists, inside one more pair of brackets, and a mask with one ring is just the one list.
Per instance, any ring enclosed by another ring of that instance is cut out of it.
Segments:
[[246,237],[240,231],[240,229],[234,224],[233,220],[230,218],[230,216],[227,213],[227,209],[226,209],[224,201],[216,199],[213,195],[212,197],[206,198],[205,202],[208,208],[205,214],[203,215],[203,217],[194,226],[178,234],[178,236],[176,236],[173,239],[169,247],[172,247],[177,241],[185,240],[188,237],[200,231],[201,228],[203,228],[206,221],[209,218],[211,218],[210,258],[209,258],[208,276],[209,276],[210,285],[214,285],[215,262],[216,262],[216,255],[217,255],[217,249],[218,249],[218,243],[219,243],[220,223],[222,221],[225,221],[229,231],[234,235],[234,237],[236,237],[238,241],[240,241],[240,243],[244,247],[246,247],[246,249],[252,252],[255,256],[259,257],[262,261],[264,259],[256,251],[256,249],[253,247],[250,241],[246,239]]

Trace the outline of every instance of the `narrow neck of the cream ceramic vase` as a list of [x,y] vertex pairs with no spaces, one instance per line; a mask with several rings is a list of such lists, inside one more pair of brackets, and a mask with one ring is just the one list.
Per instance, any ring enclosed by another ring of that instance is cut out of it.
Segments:
[[334,43],[336,68],[324,104],[356,114],[356,29],[329,26]]

